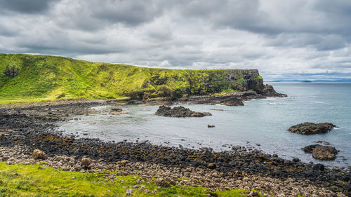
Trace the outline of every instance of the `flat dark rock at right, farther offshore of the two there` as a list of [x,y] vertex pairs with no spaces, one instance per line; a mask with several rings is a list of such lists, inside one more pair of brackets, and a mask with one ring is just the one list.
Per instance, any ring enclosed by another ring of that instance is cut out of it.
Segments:
[[317,134],[317,133],[328,133],[333,128],[336,128],[336,125],[332,123],[301,123],[291,126],[288,130],[291,133],[299,133],[304,135]]

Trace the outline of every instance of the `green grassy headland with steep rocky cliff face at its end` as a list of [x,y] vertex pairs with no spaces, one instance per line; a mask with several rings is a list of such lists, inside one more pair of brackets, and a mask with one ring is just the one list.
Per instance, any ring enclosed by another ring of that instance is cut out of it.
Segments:
[[0,102],[182,97],[259,90],[257,69],[151,69],[48,55],[0,54]]

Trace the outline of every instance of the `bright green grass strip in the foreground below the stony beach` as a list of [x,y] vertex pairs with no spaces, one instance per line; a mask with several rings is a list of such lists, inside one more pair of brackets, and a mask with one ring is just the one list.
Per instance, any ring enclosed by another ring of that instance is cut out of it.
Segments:
[[[68,172],[43,165],[7,165],[0,163],[0,196],[125,196],[134,186],[135,176],[115,176],[106,181],[102,174]],[[74,177],[74,178],[72,178]],[[139,178],[139,177],[137,177]],[[123,182],[121,182],[123,180]],[[141,182],[153,191],[154,182]],[[138,184],[140,186],[140,184]],[[245,196],[244,190],[216,191],[218,196]],[[157,195],[133,189],[133,196],[207,196],[204,187],[170,186],[158,189]]]

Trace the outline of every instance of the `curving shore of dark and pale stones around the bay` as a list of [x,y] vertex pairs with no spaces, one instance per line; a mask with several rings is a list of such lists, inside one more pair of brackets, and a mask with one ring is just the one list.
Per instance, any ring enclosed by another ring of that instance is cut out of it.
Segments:
[[[324,168],[322,164],[301,163],[298,158],[289,161],[238,146],[215,152],[211,148],[180,149],[148,142],[102,142],[55,131],[58,121],[91,114],[91,107],[105,102],[110,101],[0,106],[0,159],[8,164],[41,163],[81,172],[117,170],[119,175],[156,178],[160,186],[201,185],[211,191],[258,189],[265,196],[350,196],[350,168]],[[34,149],[46,157],[34,159]],[[83,158],[88,161],[82,162]],[[109,179],[112,175],[105,176]]]

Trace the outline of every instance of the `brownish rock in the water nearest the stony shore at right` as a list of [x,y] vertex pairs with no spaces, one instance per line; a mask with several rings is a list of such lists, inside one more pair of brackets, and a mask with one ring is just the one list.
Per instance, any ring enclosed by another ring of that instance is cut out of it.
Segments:
[[312,153],[312,156],[315,159],[326,161],[336,159],[336,154],[338,154],[338,150],[336,148],[319,144],[303,147],[303,151],[306,153]]

